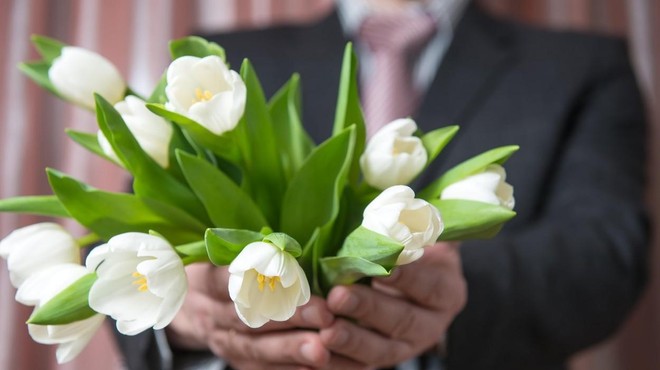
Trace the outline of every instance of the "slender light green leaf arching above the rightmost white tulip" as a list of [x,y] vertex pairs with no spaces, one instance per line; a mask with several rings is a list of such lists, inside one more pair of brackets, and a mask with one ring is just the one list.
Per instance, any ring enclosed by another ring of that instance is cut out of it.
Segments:
[[437,180],[418,192],[417,197],[428,201],[437,199],[442,193],[442,190],[450,184],[476,173],[483,172],[491,164],[504,164],[519,148],[517,145],[502,146],[472,157],[445,172]]

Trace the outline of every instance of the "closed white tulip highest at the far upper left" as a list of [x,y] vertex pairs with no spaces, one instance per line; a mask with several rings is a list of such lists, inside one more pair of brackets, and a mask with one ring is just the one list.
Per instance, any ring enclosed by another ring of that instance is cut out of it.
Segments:
[[92,110],[94,93],[115,104],[126,92],[126,82],[109,60],[75,46],[62,48],[48,70],[48,78],[63,97]]

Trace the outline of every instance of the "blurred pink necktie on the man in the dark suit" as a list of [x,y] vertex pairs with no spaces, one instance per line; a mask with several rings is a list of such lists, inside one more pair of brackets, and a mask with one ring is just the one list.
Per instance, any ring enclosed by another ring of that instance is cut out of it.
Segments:
[[414,61],[435,33],[427,14],[370,16],[360,27],[360,39],[373,53],[373,71],[365,81],[363,105],[367,132],[411,115],[420,102],[413,85]]

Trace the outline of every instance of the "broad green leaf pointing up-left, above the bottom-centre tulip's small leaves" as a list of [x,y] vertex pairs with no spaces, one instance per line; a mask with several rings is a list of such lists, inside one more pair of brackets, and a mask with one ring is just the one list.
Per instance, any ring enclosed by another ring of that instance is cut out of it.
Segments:
[[184,176],[216,227],[259,230],[268,225],[261,210],[227,175],[207,161],[178,152]]

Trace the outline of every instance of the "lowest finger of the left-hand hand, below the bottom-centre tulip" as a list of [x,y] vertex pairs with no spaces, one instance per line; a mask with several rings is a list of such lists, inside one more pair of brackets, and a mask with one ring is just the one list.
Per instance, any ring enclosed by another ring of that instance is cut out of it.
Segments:
[[215,331],[209,339],[211,351],[241,369],[248,366],[271,369],[274,365],[322,367],[330,359],[330,352],[311,331],[259,334]]

